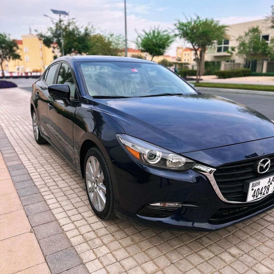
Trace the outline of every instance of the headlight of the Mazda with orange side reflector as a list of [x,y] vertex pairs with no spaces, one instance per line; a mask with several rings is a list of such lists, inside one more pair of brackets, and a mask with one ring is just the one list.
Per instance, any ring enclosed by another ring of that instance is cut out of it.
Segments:
[[169,170],[188,170],[195,164],[188,158],[138,138],[126,134],[116,136],[126,151],[143,164]]

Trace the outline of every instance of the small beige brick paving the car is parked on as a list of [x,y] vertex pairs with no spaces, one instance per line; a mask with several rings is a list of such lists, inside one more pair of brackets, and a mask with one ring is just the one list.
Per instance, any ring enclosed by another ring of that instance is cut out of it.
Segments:
[[36,144],[30,93],[0,90],[0,98],[0,125],[90,273],[274,273],[274,211],[211,233],[101,221],[83,179],[52,146]]

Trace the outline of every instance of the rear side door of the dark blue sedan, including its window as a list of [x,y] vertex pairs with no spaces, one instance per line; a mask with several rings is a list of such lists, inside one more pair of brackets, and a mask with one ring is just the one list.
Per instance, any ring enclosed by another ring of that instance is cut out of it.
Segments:
[[35,83],[35,93],[33,101],[36,106],[36,115],[40,131],[49,138],[48,122],[48,86],[52,85],[57,71],[58,63],[47,68],[40,81]]

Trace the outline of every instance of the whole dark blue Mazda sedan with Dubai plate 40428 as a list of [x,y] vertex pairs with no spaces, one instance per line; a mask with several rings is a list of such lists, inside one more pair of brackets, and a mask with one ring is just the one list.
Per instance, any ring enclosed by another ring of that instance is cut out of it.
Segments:
[[274,207],[274,123],[141,59],[56,59],[33,84],[38,144],[84,178],[94,213],[220,229]]

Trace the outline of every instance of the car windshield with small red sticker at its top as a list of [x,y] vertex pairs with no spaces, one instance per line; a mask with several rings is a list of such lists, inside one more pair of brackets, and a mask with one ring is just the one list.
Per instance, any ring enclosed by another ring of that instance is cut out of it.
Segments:
[[80,68],[88,93],[95,97],[197,94],[179,76],[158,64],[83,62]]

